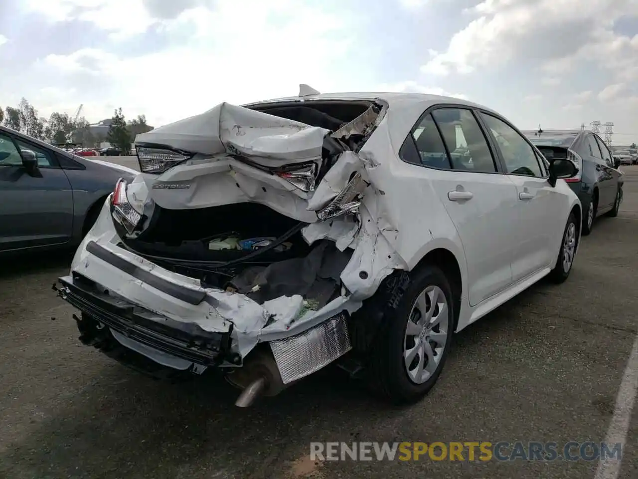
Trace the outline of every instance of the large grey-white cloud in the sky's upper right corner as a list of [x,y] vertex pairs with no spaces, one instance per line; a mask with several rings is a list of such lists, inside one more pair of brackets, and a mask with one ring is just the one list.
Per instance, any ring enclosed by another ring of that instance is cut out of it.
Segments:
[[447,50],[434,54],[423,72],[470,73],[517,59],[559,75],[587,55],[614,57],[601,64],[608,68],[638,66],[638,36],[612,31],[614,20],[638,14],[636,0],[484,0],[468,11],[477,18],[454,34]]

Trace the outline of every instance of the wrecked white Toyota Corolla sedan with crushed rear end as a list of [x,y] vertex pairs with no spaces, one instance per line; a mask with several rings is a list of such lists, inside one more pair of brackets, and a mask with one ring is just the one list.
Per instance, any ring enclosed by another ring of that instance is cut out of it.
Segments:
[[395,403],[452,334],[545,276],[581,204],[507,119],[412,93],[228,103],[138,135],[57,291],[80,340],[155,375],[221,370],[238,406],[336,363]]

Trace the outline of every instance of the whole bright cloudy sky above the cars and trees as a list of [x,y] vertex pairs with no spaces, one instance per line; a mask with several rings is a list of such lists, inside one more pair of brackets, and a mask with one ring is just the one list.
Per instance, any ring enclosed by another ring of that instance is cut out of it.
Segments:
[[159,126],[308,83],[638,142],[638,0],[0,0],[0,65],[0,106],[41,116],[121,106]]

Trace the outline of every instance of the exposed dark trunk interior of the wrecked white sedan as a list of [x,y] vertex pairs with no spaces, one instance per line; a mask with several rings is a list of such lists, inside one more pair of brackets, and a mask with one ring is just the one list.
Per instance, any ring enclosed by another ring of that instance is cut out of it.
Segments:
[[300,294],[320,308],[341,291],[339,276],[352,250],[329,240],[312,246],[306,224],[257,203],[172,210],[156,206],[147,229],[124,247],[205,287],[246,294],[263,303]]

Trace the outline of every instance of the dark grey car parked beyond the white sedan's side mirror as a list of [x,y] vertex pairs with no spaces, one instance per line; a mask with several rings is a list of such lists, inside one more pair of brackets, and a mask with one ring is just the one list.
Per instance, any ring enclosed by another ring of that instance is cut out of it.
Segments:
[[568,158],[579,171],[565,179],[581,200],[587,214],[582,233],[590,234],[598,215],[615,217],[623,201],[623,173],[619,160],[600,137],[588,130],[540,130],[524,132],[547,160]]

